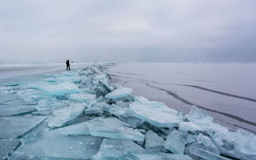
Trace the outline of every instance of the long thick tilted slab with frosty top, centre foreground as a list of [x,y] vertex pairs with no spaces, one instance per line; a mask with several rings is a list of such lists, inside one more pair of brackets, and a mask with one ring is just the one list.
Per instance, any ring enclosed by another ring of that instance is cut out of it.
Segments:
[[117,118],[95,118],[87,121],[90,134],[93,136],[143,141],[144,135],[131,128],[130,124]]

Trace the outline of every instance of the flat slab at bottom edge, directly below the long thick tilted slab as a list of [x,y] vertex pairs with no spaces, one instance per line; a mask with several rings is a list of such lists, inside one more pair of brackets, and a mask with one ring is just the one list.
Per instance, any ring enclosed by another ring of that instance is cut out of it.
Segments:
[[132,140],[117,140],[105,138],[97,154],[92,157],[92,160],[106,160],[106,159],[118,159],[124,156],[128,152],[141,153],[145,149],[134,143]]

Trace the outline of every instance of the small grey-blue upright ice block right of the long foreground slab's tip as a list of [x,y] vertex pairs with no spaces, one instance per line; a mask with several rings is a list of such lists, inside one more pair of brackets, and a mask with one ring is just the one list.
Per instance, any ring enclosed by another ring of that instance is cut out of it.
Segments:
[[148,131],[146,135],[145,149],[148,152],[158,152],[163,149],[164,140],[155,132]]

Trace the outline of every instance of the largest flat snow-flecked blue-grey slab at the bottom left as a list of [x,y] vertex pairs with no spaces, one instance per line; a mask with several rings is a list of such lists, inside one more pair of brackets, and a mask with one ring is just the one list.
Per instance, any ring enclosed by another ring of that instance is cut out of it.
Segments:
[[86,135],[62,135],[58,130],[38,134],[15,152],[31,156],[90,159],[99,151],[100,137]]

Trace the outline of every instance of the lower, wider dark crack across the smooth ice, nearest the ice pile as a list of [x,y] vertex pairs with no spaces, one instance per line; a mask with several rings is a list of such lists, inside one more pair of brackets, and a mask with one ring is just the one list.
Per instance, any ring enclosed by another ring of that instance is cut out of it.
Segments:
[[[140,81],[134,81],[134,82],[139,82],[139,83],[144,83],[146,84],[148,87],[152,87],[152,88],[156,88],[156,89],[159,89],[161,91],[165,91],[167,94],[171,95],[173,98],[177,99],[177,100],[180,100],[182,101],[183,103],[186,103],[188,105],[196,105],[194,103],[191,103],[189,102],[188,100],[185,100],[184,98],[180,97],[178,94],[175,94],[171,91],[168,91],[168,90],[165,90],[163,88],[159,88],[159,87],[155,87],[155,86],[152,86],[152,85],[149,85],[149,83],[146,83],[146,82],[140,82]],[[210,112],[214,112],[214,113],[219,113],[220,115],[224,115],[224,116],[227,116],[229,118],[232,118],[232,119],[236,119],[237,121],[239,122],[244,122],[246,124],[251,124],[253,126],[256,126],[256,123],[254,122],[251,122],[251,121],[248,121],[248,120],[245,120],[239,116],[235,116],[235,115],[231,115],[231,114],[228,114],[228,113],[224,113],[224,112],[219,112],[219,111],[216,111],[216,110],[212,110],[212,109],[209,109],[209,108],[204,108],[202,106],[199,106],[199,105],[196,105],[198,108],[201,108],[201,109],[204,109],[204,110],[207,110],[207,111],[210,111]]]

